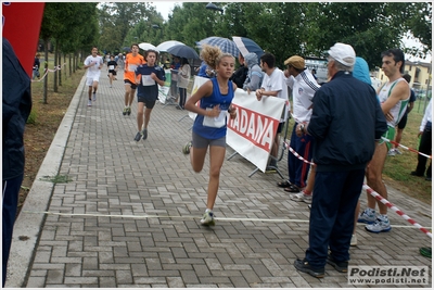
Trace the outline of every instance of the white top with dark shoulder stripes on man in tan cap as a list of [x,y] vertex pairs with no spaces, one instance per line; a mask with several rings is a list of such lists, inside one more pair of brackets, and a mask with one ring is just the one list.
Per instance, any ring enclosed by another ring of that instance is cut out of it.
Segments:
[[315,92],[320,88],[317,80],[306,68],[296,77],[290,76],[286,85],[292,89],[292,114],[295,122],[309,122],[312,112],[309,108]]

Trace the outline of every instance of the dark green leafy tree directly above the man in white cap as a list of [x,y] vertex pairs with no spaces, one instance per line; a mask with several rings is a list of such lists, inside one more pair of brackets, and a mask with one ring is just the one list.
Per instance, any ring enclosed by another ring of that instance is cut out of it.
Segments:
[[393,22],[388,3],[308,3],[308,51],[323,56],[335,42],[353,46],[373,68],[381,52],[400,47],[404,25]]

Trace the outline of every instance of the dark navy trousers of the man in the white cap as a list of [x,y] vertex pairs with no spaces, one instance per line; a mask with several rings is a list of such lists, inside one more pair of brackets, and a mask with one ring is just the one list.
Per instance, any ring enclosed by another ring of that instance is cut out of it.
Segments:
[[349,261],[354,211],[363,185],[365,169],[318,172],[315,176],[306,260],[326,266],[328,248],[335,261]]

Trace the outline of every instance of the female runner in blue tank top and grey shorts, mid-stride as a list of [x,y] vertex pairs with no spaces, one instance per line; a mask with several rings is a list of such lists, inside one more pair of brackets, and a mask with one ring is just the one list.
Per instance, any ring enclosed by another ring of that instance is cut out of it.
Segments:
[[231,108],[237,85],[229,80],[233,74],[235,60],[231,54],[222,53],[217,47],[203,46],[201,54],[216,71],[217,76],[202,85],[186,103],[186,109],[197,115],[194,119],[192,142],[187,143],[182,152],[190,153],[193,171],[200,173],[209,148],[208,197],[201,224],[214,226],[213,207],[226,154],[227,115],[229,113],[231,118],[237,117],[235,110]]

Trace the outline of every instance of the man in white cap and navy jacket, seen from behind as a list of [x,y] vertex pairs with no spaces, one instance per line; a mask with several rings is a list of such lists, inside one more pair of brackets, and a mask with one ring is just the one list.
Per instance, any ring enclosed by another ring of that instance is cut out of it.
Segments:
[[[317,165],[309,220],[309,248],[296,269],[322,278],[326,263],[348,270],[354,212],[365,168],[387,125],[374,89],[355,77],[354,49],[335,43],[329,50],[331,80],[314,97],[310,122],[297,130],[315,138]],[[329,253],[330,248],[330,253]]]

